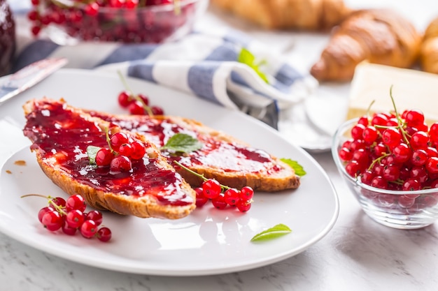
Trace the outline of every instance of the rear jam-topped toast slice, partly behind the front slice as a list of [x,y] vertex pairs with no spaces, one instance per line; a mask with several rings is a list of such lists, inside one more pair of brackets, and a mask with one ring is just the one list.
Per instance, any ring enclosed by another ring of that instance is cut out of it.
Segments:
[[222,185],[240,189],[250,186],[257,191],[282,191],[299,187],[295,171],[279,158],[262,149],[255,149],[199,121],[174,116],[115,115],[88,111],[92,116],[116,124],[125,130],[143,135],[161,148],[176,133],[185,133],[202,142],[202,148],[190,153],[162,151],[171,165],[194,187],[202,179],[178,167],[178,161],[190,170],[216,179]]

